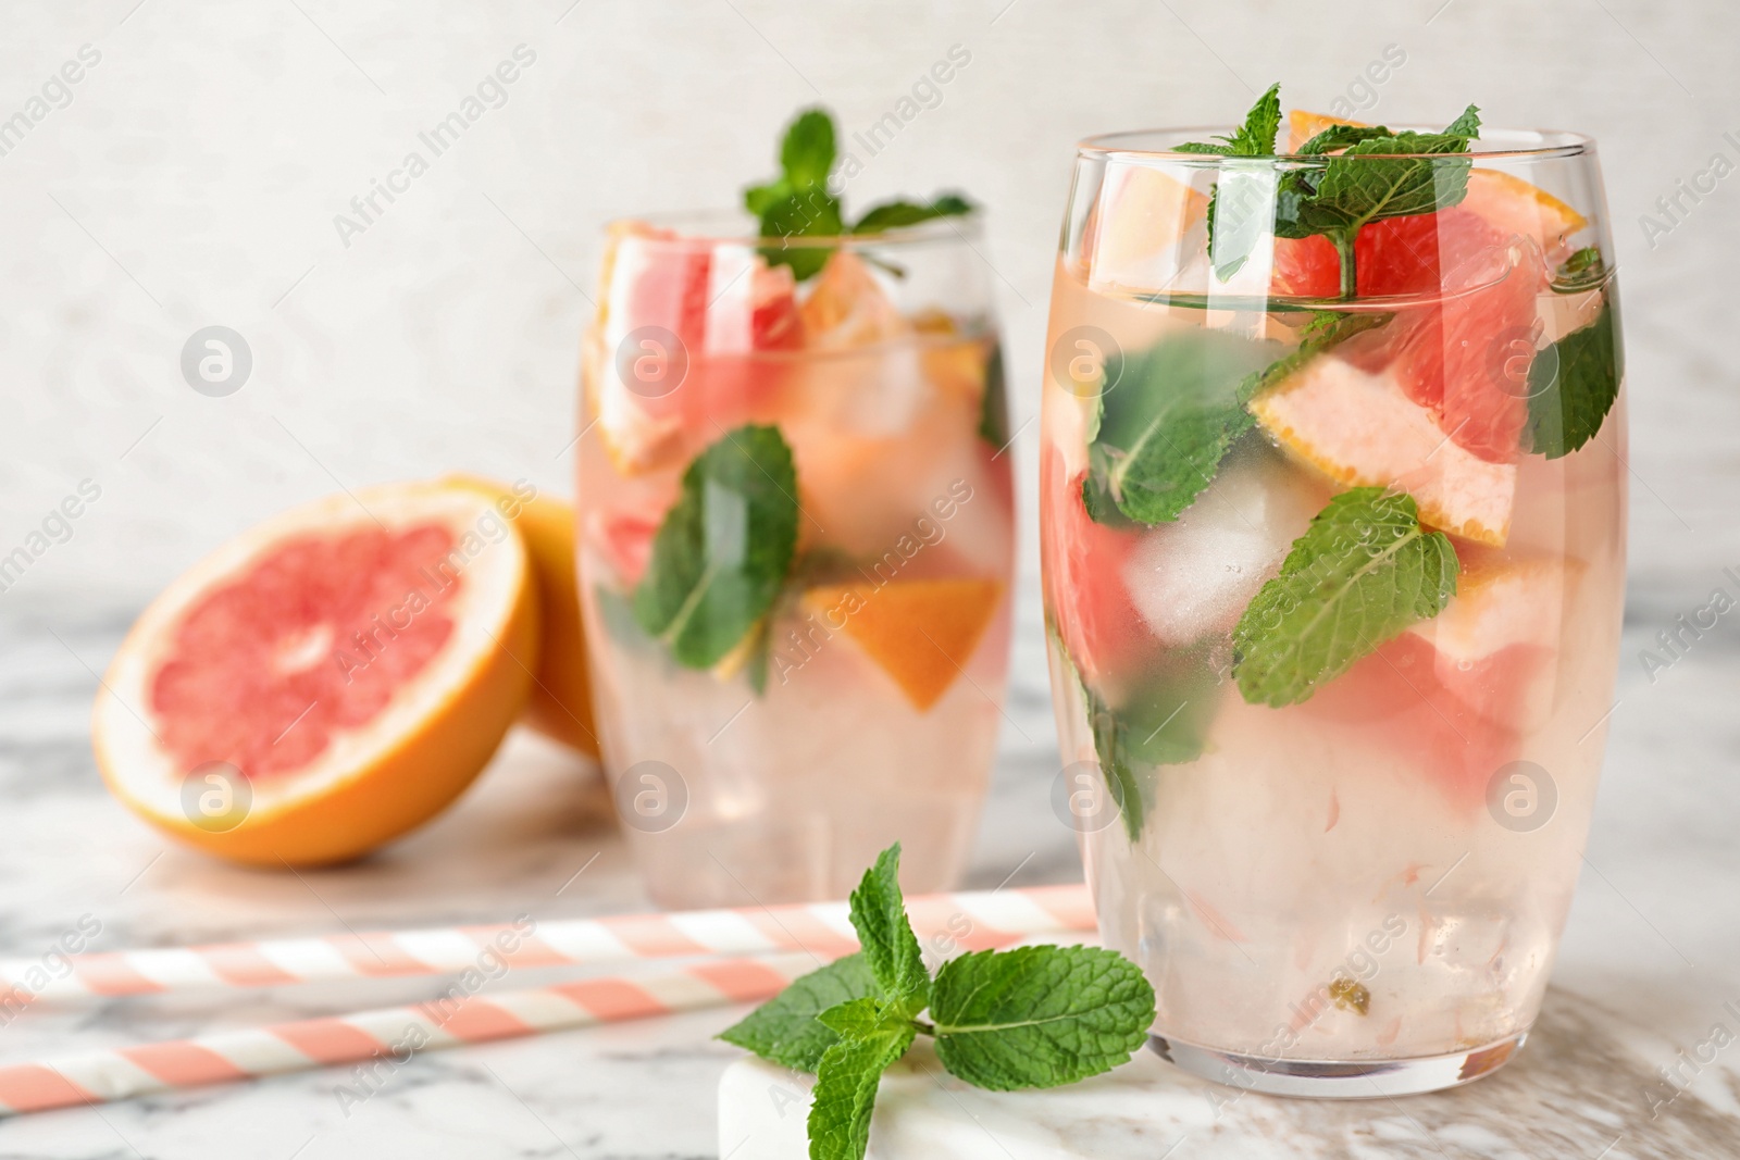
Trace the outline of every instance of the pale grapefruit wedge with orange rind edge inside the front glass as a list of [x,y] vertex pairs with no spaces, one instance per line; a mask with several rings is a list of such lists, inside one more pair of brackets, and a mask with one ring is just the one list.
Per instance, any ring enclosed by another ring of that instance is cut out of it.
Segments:
[[1502,548],[1516,464],[1465,450],[1409,400],[1390,372],[1319,355],[1251,402],[1262,428],[1296,459],[1347,487],[1394,487],[1430,527]]

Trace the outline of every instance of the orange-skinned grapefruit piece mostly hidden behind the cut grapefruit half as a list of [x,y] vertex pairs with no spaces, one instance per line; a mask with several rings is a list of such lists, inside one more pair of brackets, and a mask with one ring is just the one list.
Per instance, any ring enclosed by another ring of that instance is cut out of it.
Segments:
[[480,489],[492,497],[496,510],[525,543],[541,626],[525,723],[552,741],[599,757],[586,633],[579,623],[579,581],[574,572],[574,506],[524,482],[510,487],[475,475],[454,475],[449,482]]

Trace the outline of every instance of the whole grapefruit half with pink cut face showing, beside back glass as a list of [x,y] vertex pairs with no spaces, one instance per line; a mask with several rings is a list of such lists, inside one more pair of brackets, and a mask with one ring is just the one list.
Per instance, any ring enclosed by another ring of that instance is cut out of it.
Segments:
[[395,483],[277,515],[139,616],[92,715],[110,790],[240,863],[339,863],[428,821],[525,704],[538,602],[491,496]]

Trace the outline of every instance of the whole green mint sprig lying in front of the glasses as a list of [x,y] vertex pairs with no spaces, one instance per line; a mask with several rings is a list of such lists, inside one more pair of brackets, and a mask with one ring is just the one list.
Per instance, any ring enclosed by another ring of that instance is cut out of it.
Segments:
[[811,1160],[863,1158],[882,1073],[919,1035],[934,1038],[952,1075],[1016,1090],[1110,1071],[1147,1042],[1154,1023],[1154,988],[1141,970],[1093,946],[974,951],[945,962],[933,979],[898,871],[896,843],[853,892],[861,951],[797,979],[719,1037],[816,1073]]

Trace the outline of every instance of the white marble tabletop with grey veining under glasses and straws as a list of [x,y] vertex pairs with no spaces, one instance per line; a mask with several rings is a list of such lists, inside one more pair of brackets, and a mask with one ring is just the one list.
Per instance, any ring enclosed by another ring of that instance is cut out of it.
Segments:
[[[1672,1090],[1658,1066],[1679,1061],[1679,1049],[1695,1052],[1712,1024],[1740,1031],[1723,1007],[1740,998],[1740,784],[1731,781],[1740,657],[1731,638],[1710,637],[1651,685],[1636,654],[1674,614],[1648,593],[1632,597],[1636,640],[1589,866],[1543,1023],[1509,1070],[1395,1103],[1249,1096],[1216,1118],[1206,1085],[1143,1059],[1079,1092],[1039,1097],[941,1092],[920,1078],[891,1106],[910,1108],[940,1139],[978,1139],[985,1155],[1021,1160],[1042,1155],[1030,1151],[1044,1139],[1027,1117],[1030,1099],[1044,1106],[1041,1123],[1086,1108],[1098,1127],[1086,1137],[1072,1129],[1070,1139],[1105,1157],[1740,1155],[1740,1047],[1714,1052],[1691,1090],[1650,1117],[1651,1096]],[[103,948],[646,906],[593,772],[531,737],[515,737],[458,809],[360,866],[292,877],[165,847],[108,798],[89,755],[90,670],[106,663],[125,621],[125,610],[57,605],[14,607],[0,619],[0,800],[10,823],[0,843],[0,953],[40,955],[84,915],[103,923]],[[1034,628],[1020,635],[1014,727],[973,861],[976,885],[1011,871],[1016,883],[1079,873],[1072,835],[1047,805],[1056,765]],[[548,974],[508,983],[539,977]],[[0,1063],[433,993],[432,981],[371,981],[38,1009],[0,1028]],[[428,1052],[348,1115],[336,1089],[350,1077],[313,1071],[24,1117],[0,1123],[0,1155],[717,1155],[741,1143],[719,1148],[715,1111],[720,1075],[740,1052],[712,1035],[740,1014]],[[1693,1077],[1688,1064],[1681,1071]],[[1112,1092],[1138,1097],[1108,1104]]]

